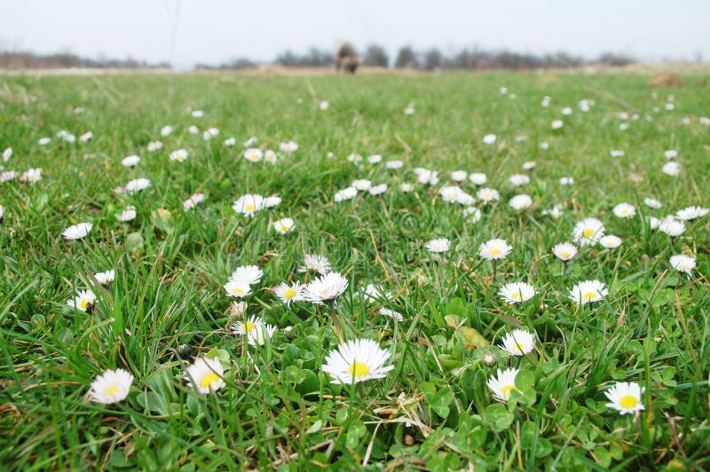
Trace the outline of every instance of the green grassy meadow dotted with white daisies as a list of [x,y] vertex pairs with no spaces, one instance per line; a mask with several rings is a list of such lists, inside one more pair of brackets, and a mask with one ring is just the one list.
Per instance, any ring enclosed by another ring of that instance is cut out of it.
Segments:
[[0,76],[0,460],[710,468],[710,85],[650,76]]

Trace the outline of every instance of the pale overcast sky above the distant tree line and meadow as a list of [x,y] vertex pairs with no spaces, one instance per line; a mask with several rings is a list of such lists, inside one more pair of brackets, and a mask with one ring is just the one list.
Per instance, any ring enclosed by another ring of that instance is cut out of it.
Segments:
[[0,0],[0,49],[217,64],[288,49],[438,46],[710,59],[701,0]]

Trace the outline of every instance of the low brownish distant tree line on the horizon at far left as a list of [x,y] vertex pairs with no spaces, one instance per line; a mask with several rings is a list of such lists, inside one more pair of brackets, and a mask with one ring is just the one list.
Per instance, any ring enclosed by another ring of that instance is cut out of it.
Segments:
[[2,69],[51,69],[51,68],[97,68],[97,69],[145,69],[164,67],[170,64],[162,62],[150,64],[138,59],[88,59],[71,52],[54,54],[35,54],[29,51],[0,51],[0,68]]

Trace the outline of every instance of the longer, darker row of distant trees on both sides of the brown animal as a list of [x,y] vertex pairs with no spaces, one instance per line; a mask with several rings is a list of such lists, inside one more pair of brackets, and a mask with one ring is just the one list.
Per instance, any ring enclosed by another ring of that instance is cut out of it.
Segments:
[[[496,69],[538,69],[538,68],[571,68],[588,64],[604,64],[609,66],[625,66],[635,59],[611,52],[604,53],[596,59],[585,59],[572,56],[566,52],[555,54],[531,54],[513,51],[484,51],[477,48],[462,49],[446,54],[438,48],[416,51],[412,46],[399,48],[394,60],[390,60],[387,51],[378,44],[368,45],[364,51],[359,51],[360,63],[370,67],[408,68],[422,71],[435,70],[496,70]],[[313,47],[305,54],[294,51],[280,53],[273,64],[285,67],[333,67],[335,59],[332,51]],[[255,67],[257,63],[249,59],[234,59],[217,67],[200,65],[202,68],[239,70]]]

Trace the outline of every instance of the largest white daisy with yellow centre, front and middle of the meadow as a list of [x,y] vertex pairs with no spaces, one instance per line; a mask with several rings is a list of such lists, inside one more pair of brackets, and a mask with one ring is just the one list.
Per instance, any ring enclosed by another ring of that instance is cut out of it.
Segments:
[[337,350],[331,350],[321,369],[333,378],[331,383],[365,382],[387,376],[394,368],[385,366],[390,357],[390,350],[380,348],[377,342],[356,339],[340,344]]

